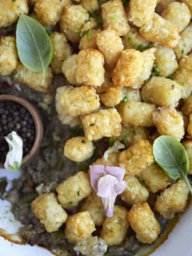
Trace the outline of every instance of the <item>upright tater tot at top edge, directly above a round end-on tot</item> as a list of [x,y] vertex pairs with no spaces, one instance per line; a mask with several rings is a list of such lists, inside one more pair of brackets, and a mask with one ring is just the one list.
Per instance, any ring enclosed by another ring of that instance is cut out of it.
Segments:
[[121,0],[110,0],[101,5],[103,27],[112,28],[119,36],[126,35],[130,29]]

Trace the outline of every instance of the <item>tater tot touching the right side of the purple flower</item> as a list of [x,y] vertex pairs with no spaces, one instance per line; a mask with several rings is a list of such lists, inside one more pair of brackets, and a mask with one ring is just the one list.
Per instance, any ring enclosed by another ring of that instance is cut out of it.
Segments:
[[127,187],[120,195],[121,200],[128,205],[147,201],[149,190],[139,182],[138,178],[126,176],[124,181],[127,183]]

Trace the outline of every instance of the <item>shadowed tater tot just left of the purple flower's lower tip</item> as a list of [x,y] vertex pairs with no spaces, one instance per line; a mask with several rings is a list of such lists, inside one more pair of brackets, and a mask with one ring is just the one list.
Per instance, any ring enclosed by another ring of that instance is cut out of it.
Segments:
[[106,217],[101,197],[97,196],[94,192],[86,197],[80,211],[88,211],[96,226],[101,226]]

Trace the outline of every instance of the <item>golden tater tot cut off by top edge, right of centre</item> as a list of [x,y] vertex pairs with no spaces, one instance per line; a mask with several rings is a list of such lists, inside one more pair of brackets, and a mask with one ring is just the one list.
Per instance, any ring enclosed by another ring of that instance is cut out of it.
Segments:
[[129,20],[137,27],[148,24],[153,18],[156,4],[157,0],[131,0],[129,2]]

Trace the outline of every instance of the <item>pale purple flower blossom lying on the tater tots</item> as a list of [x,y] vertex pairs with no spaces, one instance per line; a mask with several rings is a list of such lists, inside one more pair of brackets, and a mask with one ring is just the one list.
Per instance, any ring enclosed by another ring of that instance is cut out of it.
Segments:
[[99,197],[102,198],[107,217],[113,216],[113,209],[117,195],[126,189],[123,181],[125,169],[114,166],[91,165],[91,186]]

